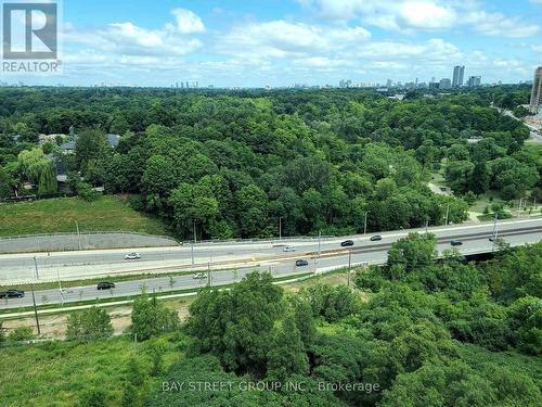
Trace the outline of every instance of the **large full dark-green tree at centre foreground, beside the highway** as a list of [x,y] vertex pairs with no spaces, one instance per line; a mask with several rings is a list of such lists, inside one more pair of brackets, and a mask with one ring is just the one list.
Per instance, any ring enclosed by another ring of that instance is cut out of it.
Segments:
[[206,289],[190,307],[189,332],[197,353],[210,352],[236,372],[263,376],[269,338],[283,304],[269,274],[247,275],[231,291]]

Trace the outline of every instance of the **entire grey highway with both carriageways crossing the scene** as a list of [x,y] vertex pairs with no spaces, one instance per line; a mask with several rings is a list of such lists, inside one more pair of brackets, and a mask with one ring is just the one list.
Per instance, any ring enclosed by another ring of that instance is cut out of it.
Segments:
[[[460,239],[463,245],[456,249],[463,254],[487,253],[493,250],[493,243],[488,240],[493,230],[493,224],[478,225],[457,225],[448,227],[429,228],[429,231],[438,238],[438,251],[451,249],[450,240]],[[537,243],[542,239],[542,219],[527,219],[518,221],[502,221],[498,227],[499,236],[511,245],[521,245],[526,243]],[[422,230],[423,231],[423,230]],[[179,264],[175,267],[177,270],[183,267],[188,269],[210,270],[212,285],[222,285],[240,281],[245,274],[253,270],[270,271],[273,277],[295,276],[296,274],[323,272],[331,269],[348,266],[349,260],[352,265],[359,264],[383,264],[387,258],[387,251],[392,242],[404,237],[410,231],[395,231],[382,233],[383,240],[371,242],[369,236],[353,236],[350,238],[318,240],[288,241],[285,242],[260,242],[260,243],[233,243],[233,244],[201,244],[195,245],[195,264],[191,266],[191,249],[179,247],[176,250],[139,250],[142,258],[140,260],[125,260],[126,251],[105,251],[104,254],[93,252],[70,252],[70,253],[51,253],[39,254],[38,262],[41,274],[52,272],[56,277],[55,264],[63,264],[63,271],[78,270],[80,268],[93,267],[103,269],[105,276],[115,265],[129,264],[134,267],[154,267],[153,270],[164,272],[164,265],[170,263]],[[352,247],[341,247],[340,242],[351,239],[354,241]],[[295,253],[283,252],[284,245],[296,247]],[[0,256],[0,270],[2,274],[9,274],[17,266],[18,262],[24,262],[26,267],[34,264],[31,255],[11,255]],[[152,259],[147,259],[152,257]],[[350,258],[349,258],[350,257]],[[309,266],[296,267],[297,259],[309,260]],[[111,262],[111,263],[107,263]],[[49,267],[48,267],[49,265]],[[52,265],[52,266],[51,266]],[[102,267],[105,265],[106,267]],[[169,267],[169,266],[167,266]],[[167,269],[167,267],[165,267]],[[236,271],[217,270],[218,268],[236,268]],[[33,270],[34,268],[30,267]],[[116,268],[115,268],[116,269]],[[111,271],[107,274],[111,275]],[[68,276],[72,276],[68,272]],[[93,275],[94,276],[94,275]],[[114,277],[107,278],[107,281],[114,281]],[[36,279],[34,280],[37,281]],[[40,280],[42,281],[41,277]],[[98,291],[95,285],[78,287],[64,289],[62,292],[55,290],[42,290],[36,292],[37,304],[61,304],[85,300],[114,298],[126,295],[139,294],[144,287],[147,292],[153,290],[157,293],[196,289],[208,283],[207,279],[194,279],[193,275],[177,276],[171,281],[168,277],[149,278],[145,280],[131,280],[116,283],[113,290]],[[0,300],[0,308],[17,308],[31,305],[31,295],[29,292],[24,298]]]

